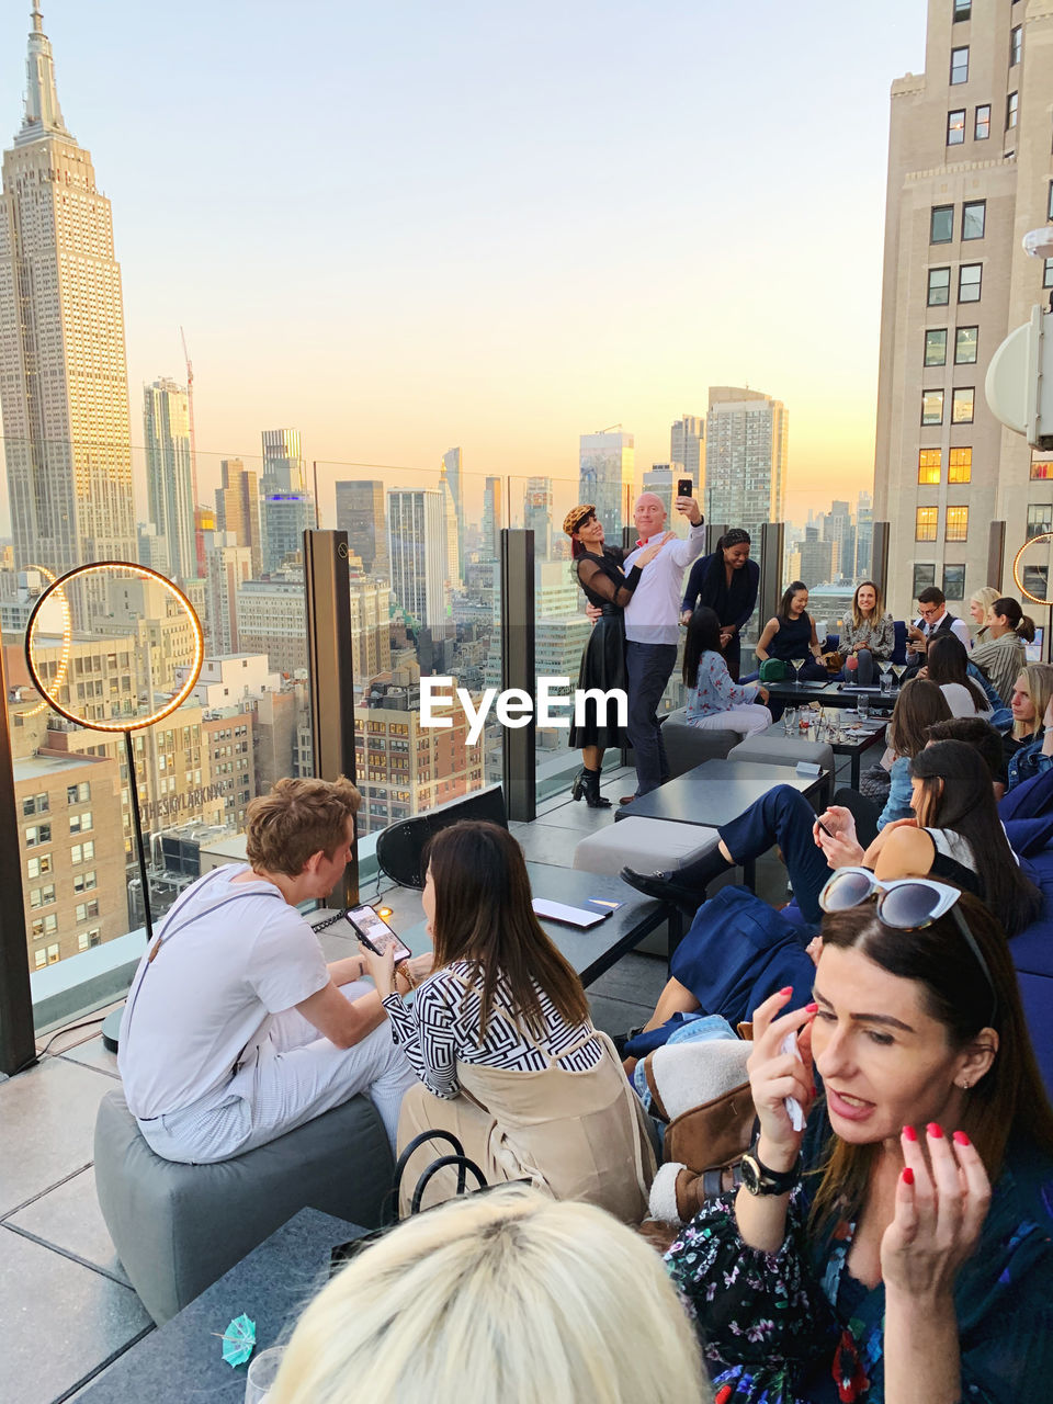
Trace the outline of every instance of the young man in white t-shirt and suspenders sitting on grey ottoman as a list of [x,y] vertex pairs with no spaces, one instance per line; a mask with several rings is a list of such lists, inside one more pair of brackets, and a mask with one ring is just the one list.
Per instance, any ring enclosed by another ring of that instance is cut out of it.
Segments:
[[[249,806],[249,866],[199,878],[140,960],[118,1067],[166,1160],[229,1160],[357,1092],[395,1146],[413,1068],[376,991],[359,983],[362,956],[327,966],[296,911],[340,882],[359,803],[345,779],[278,781]],[[413,979],[430,963],[411,962]]]

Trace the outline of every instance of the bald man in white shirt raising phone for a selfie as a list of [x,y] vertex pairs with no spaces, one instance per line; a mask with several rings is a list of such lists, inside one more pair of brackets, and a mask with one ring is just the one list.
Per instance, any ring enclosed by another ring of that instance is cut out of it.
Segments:
[[[625,668],[629,678],[629,741],[636,758],[636,795],[647,795],[670,778],[658,726],[658,702],[677,663],[680,598],[684,571],[705,548],[702,512],[694,497],[678,497],[677,511],[691,522],[685,541],[665,542],[647,566],[625,607]],[[633,508],[636,550],[625,557],[630,571],[651,536],[665,529],[665,508],[654,493],[642,493]],[[630,795],[622,803],[636,796]]]

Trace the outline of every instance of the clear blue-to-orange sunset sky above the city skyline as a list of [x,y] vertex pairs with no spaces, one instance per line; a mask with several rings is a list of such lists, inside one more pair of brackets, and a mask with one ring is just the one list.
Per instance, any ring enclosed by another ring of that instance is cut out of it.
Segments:
[[[423,482],[453,444],[479,482],[576,482],[578,435],[621,424],[639,475],[709,385],[789,407],[790,518],[854,497],[889,87],[925,10],[42,0],[112,201],[132,441],[142,383],[185,379],[184,326],[201,498],[279,425],[323,526],[331,482],[368,476],[338,465]],[[4,147],[28,11],[0,7]]]

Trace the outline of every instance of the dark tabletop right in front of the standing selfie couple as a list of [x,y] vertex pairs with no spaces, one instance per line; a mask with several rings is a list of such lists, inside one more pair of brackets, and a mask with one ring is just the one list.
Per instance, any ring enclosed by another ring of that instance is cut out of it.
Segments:
[[678,824],[703,824],[716,828],[739,819],[776,785],[790,785],[802,795],[812,795],[826,783],[826,771],[799,775],[793,765],[767,765],[762,761],[703,761],[694,771],[667,781],[650,795],[623,804],[619,819],[667,819]]

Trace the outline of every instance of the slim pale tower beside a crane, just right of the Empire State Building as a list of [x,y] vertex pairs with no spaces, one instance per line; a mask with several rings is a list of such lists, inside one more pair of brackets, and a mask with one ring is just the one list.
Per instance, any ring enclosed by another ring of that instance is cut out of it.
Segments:
[[143,444],[150,521],[164,542],[164,571],[180,581],[197,580],[190,410],[185,389],[174,380],[143,386]]

